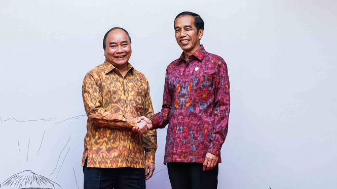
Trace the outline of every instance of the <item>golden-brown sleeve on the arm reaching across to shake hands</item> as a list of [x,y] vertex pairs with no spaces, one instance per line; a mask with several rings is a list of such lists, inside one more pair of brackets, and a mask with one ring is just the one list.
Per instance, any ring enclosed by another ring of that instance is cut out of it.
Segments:
[[82,85],[82,97],[88,119],[102,126],[113,128],[132,128],[137,125],[136,118],[126,117],[105,111],[102,107],[102,89],[94,75],[87,73]]

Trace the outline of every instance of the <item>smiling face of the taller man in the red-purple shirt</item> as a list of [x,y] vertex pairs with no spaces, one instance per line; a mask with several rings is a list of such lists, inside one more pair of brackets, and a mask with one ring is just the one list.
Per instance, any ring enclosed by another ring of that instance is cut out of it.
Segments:
[[180,16],[174,22],[175,39],[184,51],[185,58],[192,55],[200,47],[200,39],[204,30],[196,28],[194,17],[190,15]]

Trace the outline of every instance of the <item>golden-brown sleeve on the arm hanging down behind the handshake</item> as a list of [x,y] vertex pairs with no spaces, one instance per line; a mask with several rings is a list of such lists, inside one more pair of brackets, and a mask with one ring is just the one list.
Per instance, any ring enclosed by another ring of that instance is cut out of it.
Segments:
[[[151,118],[154,115],[149,84],[146,80],[146,91],[145,91],[145,100],[144,100],[145,112],[144,116]],[[142,144],[145,151],[145,162],[155,163],[155,155],[157,150],[157,130],[149,130],[147,133],[142,134]]]

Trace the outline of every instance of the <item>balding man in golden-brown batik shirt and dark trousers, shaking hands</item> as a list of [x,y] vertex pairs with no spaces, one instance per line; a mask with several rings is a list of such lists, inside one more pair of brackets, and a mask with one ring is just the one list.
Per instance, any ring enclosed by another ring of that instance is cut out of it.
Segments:
[[128,62],[131,38],[125,29],[111,28],[103,49],[104,63],[86,74],[82,86],[88,115],[84,188],[145,188],[157,150],[157,131],[137,123],[139,116],[154,115],[148,81]]

